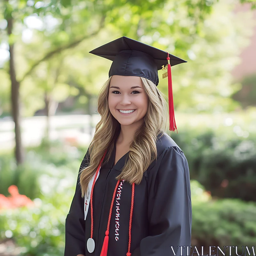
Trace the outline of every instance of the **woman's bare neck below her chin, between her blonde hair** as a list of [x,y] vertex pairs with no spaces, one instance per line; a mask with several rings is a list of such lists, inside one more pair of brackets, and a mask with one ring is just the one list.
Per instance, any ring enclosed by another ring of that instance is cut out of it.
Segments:
[[144,119],[140,119],[138,122],[130,124],[130,125],[122,125],[119,136],[116,140],[117,144],[121,144],[123,146],[130,146],[133,140],[133,136],[135,131],[142,125]]

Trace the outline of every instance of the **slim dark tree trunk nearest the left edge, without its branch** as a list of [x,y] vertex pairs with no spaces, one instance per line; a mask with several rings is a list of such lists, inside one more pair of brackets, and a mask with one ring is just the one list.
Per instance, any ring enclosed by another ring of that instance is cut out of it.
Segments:
[[[12,34],[12,22],[13,19],[7,20],[7,32],[10,36]],[[20,83],[16,80],[16,72],[14,65],[14,44],[10,44],[10,78],[11,78],[11,101],[12,101],[12,118],[15,124],[15,157],[17,165],[24,162],[24,148],[21,142],[21,120],[20,120]]]

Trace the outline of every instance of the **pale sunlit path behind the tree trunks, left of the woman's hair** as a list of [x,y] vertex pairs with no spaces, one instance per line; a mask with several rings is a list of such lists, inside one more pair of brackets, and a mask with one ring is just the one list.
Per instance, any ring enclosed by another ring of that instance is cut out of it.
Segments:
[[[92,115],[92,129],[90,129],[89,115],[61,115],[50,117],[50,139],[77,140],[80,145],[87,145],[92,140],[95,125],[100,115]],[[46,128],[46,116],[23,118],[21,121],[22,144],[26,146],[39,145]],[[0,119],[0,150],[11,149],[15,145],[14,122],[11,118]]]

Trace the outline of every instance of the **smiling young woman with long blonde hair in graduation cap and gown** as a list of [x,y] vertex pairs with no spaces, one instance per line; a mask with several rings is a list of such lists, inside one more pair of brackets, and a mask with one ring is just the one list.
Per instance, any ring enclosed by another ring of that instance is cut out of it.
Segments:
[[67,215],[64,255],[187,255],[188,162],[165,133],[165,100],[156,87],[169,56],[172,66],[186,61],[124,36],[91,53],[113,63]]

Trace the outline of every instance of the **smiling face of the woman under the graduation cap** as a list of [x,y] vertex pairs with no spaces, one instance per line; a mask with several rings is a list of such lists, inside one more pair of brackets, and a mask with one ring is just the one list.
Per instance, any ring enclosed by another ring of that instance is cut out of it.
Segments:
[[[108,107],[121,125],[130,125],[141,120],[148,110],[148,96],[143,89],[140,77],[112,76],[108,92]],[[134,111],[121,113],[119,110]]]

